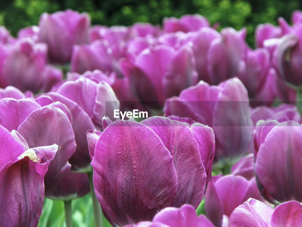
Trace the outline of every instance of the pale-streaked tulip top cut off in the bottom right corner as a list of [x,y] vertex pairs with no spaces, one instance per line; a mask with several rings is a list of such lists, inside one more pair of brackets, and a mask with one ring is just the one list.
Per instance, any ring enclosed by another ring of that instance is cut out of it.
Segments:
[[275,209],[256,199],[249,199],[230,215],[232,227],[291,227],[301,226],[302,204],[284,202]]

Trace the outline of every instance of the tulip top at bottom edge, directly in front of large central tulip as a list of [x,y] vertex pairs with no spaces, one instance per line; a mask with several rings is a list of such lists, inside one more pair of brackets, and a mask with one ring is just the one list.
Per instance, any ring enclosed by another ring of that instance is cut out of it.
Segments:
[[[125,227],[214,227],[214,225],[204,216],[196,215],[195,209],[189,204],[181,208],[168,207],[159,211],[152,222],[139,222],[136,225],[126,225]],[[223,227],[228,227],[229,221],[226,219]]]

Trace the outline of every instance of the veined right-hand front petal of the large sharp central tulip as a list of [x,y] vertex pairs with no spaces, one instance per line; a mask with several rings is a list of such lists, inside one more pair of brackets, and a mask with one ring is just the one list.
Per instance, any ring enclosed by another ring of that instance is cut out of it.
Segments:
[[173,206],[180,207],[187,203],[196,209],[204,196],[207,176],[193,132],[184,123],[165,117],[149,117],[140,123],[147,125],[159,136],[173,157],[177,173]]

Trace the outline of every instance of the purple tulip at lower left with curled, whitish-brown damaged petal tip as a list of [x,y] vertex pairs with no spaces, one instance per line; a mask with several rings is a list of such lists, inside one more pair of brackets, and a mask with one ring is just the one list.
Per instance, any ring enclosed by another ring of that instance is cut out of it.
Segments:
[[1,225],[34,227],[43,207],[43,178],[58,146],[24,149],[14,132],[0,126]]

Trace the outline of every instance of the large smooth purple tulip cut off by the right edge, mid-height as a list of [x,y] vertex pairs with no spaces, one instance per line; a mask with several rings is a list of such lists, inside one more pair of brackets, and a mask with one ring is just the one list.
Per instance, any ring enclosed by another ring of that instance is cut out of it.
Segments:
[[302,201],[301,137],[295,121],[260,120],[256,125],[255,173],[260,192],[271,203]]

